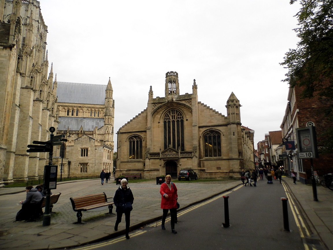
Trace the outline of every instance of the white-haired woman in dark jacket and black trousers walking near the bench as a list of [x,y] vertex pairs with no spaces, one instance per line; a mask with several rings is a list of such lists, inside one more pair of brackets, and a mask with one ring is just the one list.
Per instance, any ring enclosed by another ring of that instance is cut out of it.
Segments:
[[127,186],[128,182],[124,178],[120,181],[121,186],[116,190],[113,202],[116,206],[117,220],[115,224],[115,231],[118,231],[118,225],[122,221],[123,213],[125,213],[125,222],[126,222],[126,239],[129,239],[128,235],[130,232],[130,216],[133,209],[134,196],[130,187]]

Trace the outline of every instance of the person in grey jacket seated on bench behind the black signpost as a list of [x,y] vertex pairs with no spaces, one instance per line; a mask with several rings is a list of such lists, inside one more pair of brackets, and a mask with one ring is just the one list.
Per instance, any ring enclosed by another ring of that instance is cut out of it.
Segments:
[[19,216],[16,217],[16,220],[32,221],[39,214],[39,206],[43,195],[33,186],[27,186],[25,189],[27,197],[25,201],[20,202],[22,209],[19,211]]

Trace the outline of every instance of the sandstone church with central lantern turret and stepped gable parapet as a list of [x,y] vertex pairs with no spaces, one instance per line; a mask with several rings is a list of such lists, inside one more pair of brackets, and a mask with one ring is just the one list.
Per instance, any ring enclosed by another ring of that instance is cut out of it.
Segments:
[[192,169],[199,178],[239,178],[241,169],[254,168],[254,131],[241,125],[240,103],[234,93],[226,101],[227,116],[179,93],[177,72],[167,72],[165,96],[153,97],[147,109],[117,132],[116,176],[141,173],[151,179]]

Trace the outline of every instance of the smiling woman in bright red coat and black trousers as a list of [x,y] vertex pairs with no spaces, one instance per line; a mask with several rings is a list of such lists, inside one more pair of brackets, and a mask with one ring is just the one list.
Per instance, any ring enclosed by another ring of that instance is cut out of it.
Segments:
[[177,188],[173,182],[171,182],[171,176],[167,175],[165,178],[165,182],[161,185],[160,194],[162,195],[161,208],[163,209],[163,217],[162,217],[162,229],[165,230],[164,223],[166,221],[166,215],[170,210],[171,215],[171,232],[176,234],[177,231],[174,230],[174,221],[176,217],[177,210]]

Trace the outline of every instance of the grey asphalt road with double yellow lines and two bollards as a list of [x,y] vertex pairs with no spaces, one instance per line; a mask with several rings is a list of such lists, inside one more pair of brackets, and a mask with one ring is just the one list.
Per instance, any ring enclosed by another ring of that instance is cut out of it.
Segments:
[[129,240],[122,236],[76,249],[305,249],[289,204],[290,231],[284,231],[281,197],[286,193],[278,181],[258,181],[257,187],[241,186],[224,195],[229,196],[227,228],[222,226],[225,199],[220,195],[181,211],[177,234],[171,233],[170,221],[166,230],[157,222],[131,232]]

